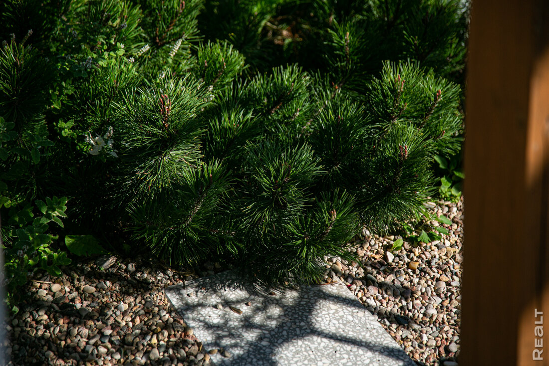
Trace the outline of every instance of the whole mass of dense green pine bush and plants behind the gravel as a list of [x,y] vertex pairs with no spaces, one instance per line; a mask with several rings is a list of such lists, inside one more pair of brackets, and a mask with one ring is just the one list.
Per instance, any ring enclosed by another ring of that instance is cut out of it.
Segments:
[[29,206],[55,196],[68,217],[41,243],[94,235],[171,264],[233,258],[263,285],[318,281],[363,226],[421,216],[437,161],[461,149],[457,0],[7,0],[0,14],[7,263],[15,211],[65,215]]

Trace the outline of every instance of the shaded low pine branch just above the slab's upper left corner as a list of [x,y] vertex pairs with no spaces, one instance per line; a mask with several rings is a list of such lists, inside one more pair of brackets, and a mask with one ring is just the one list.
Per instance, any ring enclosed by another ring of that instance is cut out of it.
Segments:
[[234,251],[230,244],[221,247],[215,235],[219,229],[212,225],[227,184],[219,164],[202,164],[171,195],[130,205],[132,239],[170,264],[193,264],[212,252]]

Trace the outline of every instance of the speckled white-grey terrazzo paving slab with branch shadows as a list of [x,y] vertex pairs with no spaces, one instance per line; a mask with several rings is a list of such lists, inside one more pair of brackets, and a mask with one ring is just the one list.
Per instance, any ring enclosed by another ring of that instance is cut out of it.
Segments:
[[416,365],[340,283],[268,295],[228,271],[165,291],[206,350],[231,353],[218,366]]

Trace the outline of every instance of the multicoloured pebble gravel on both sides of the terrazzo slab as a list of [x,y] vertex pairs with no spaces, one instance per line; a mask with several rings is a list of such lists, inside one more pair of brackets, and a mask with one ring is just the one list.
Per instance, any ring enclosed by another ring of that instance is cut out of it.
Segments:
[[[456,366],[460,350],[462,201],[431,204],[449,235],[429,244],[405,241],[391,253],[389,235],[365,230],[346,263],[327,258],[326,281],[344,281],[420,365]],[[61,277],[33,279],[30,296],[7,324],[9,365],[208,365],[205,350],[163,289],[227,269],[205,263],[198,273],[176,272],[114,256],[63,268]]]

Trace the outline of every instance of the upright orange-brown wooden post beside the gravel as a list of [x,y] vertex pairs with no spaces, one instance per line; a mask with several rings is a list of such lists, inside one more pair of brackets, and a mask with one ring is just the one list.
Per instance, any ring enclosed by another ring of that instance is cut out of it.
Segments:
[[549,335],[548,8],[547,1],[472,3],[464,366],[549,365],[549,336],[536,329]]

